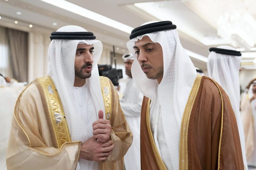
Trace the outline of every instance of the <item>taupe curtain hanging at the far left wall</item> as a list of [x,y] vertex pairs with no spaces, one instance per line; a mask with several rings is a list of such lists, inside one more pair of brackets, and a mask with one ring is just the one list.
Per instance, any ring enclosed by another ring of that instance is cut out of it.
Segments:
[[13,78],[28,81],[28,33],[7,28]]

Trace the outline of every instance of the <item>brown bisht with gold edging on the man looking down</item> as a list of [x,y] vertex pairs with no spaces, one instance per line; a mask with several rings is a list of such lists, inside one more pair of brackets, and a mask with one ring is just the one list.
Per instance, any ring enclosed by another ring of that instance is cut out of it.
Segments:
[[[141,108],[142,170],[166,169],[150,129],[150,100]],[[228,95],[206,76],[197,76],[181,122],[180,170],[244,169],[236,117]]]

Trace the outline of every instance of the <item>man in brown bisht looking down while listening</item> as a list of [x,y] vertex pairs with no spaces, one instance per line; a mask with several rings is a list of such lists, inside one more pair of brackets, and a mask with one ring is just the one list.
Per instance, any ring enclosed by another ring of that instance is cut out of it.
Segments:
[[132,77],[144,94],[142,170],[244,169],[236,117],[224,90],[196,74],[171,21],[132,30]]

